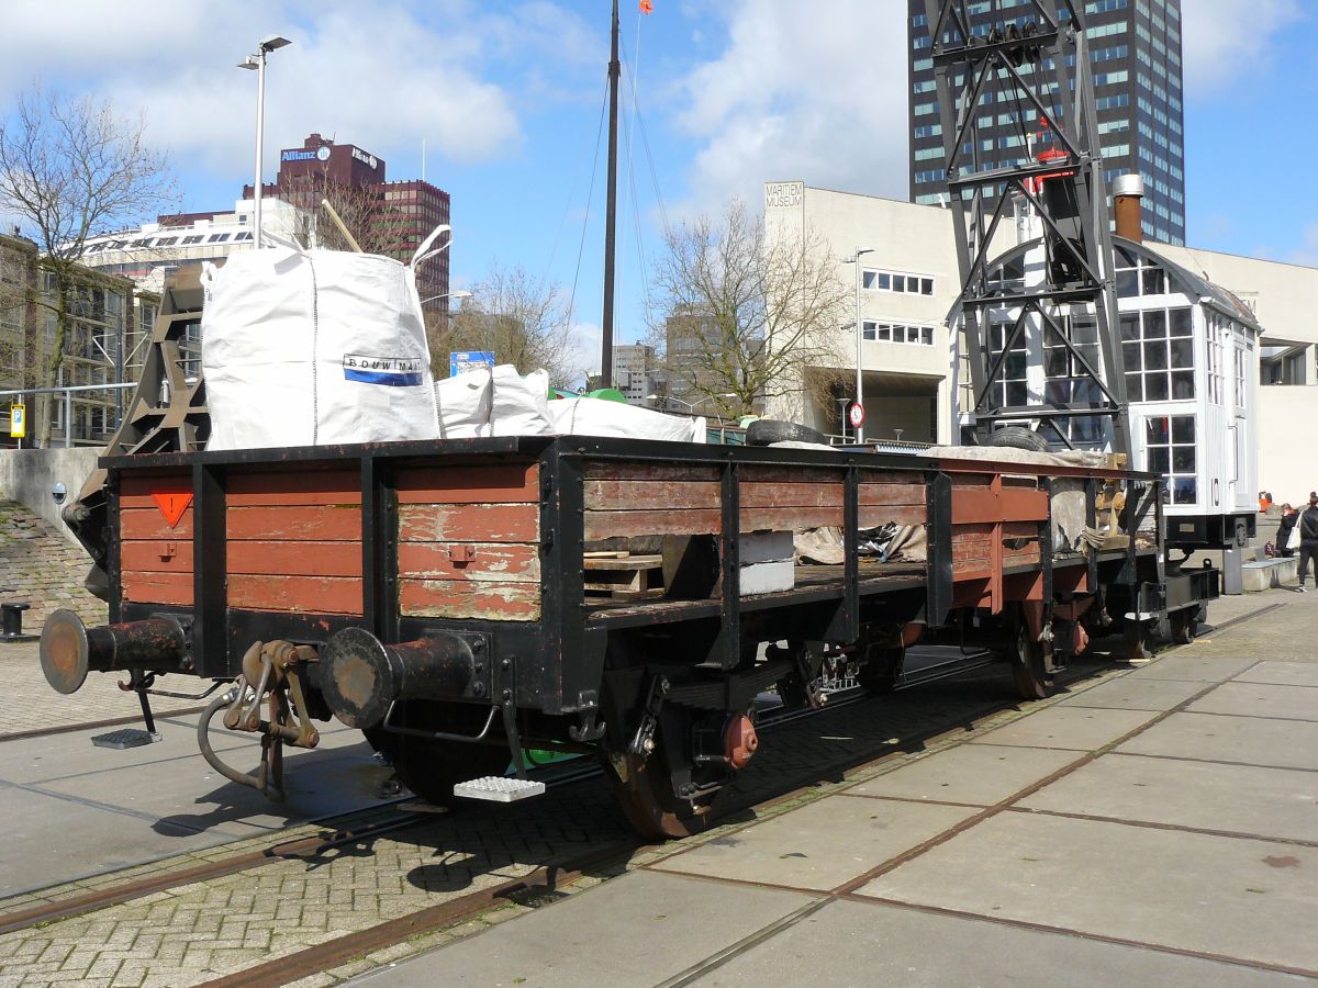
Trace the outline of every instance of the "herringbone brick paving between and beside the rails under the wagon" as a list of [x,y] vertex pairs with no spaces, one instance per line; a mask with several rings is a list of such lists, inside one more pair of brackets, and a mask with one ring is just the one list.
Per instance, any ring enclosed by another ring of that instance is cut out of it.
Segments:
[[[1228,639],[1224,634],[1218,645],[1230,647]],[[1072,676],[1082,680],[1075,688],[1083,688],[1123,671],[1099,655],[1074,667]],[[995,669],[780,725],[767,732],[762,754],[729,793],[730,806],[803,785],[818,765],[842,760],[859,765],[887,754],[894,757],[849,773],[841,768],[813,772],[812,785],[791,798],[755,814],[733,809],[726,823],[692,842],[718,839],[757,818],[789,811],[842,785],[892,771],[916,752],[958,744],[1052,702],[1056,700],[1017,705],[1008,677]],[[927,742],[903,740],[938,731]],[[626,834],[601,782],[564,786],[514,806],[469,809],[358,847],[335,848],[316,860],[283,860],[0,937],[0,985],[195,984],[526,875],[542,864],[571,860]],[[639,854],[633,865],[659,860],[692,842]],[[217,848],[207,856],[233,850]],[[590,876],[568,892],[608,876]],[[124,876],[101,879],[109,880]],[[509,904],[299,984],[333,984],[532,906]],[[3,908],[12,910],[18,904]]]

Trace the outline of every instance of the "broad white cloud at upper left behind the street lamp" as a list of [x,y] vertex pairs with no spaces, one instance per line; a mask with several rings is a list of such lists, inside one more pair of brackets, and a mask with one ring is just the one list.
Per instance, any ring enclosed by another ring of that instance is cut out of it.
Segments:
[[41,75],[120,112],[141,108],[153,141],[217,175],[249,170],[256,79],[236,63],[270,33],[294,43],[269,59],[268,170],[274,149],[312,130],[386,159],[423,138],[457,163],[503,157],[522,138],[527,53],[560,66],[592,54],[580,17],[547,0],[500,13],[478,0],[69,0],[58,14],[34,4],[8,13],[0,91]]

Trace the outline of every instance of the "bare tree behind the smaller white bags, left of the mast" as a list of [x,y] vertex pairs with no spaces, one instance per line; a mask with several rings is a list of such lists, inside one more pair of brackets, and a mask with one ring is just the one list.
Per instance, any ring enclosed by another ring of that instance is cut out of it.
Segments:
[[522,267],[496,262],[472,286],[460,312],[436,314],[430,325],[432,366],[444,373],[453,350],[489,350],[522,374],[544,368],[564,382],[568,366],[568,310],[556,285],[532,279]]

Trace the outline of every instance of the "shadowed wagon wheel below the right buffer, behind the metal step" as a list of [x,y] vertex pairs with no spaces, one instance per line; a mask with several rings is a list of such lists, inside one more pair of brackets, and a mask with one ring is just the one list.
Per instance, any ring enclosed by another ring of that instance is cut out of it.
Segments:
[[[478,732],[489,713],[488,707],[468,703],[442,706],[420,702],[401,706],[395,715],[398,723],[451,734]],[[382,727],[368,727],[362,734],[370,747],[385,756],[399,782],[436,806],[453,805],[453,785],[457,782],[502,776],[510,761],[502,732],[496,735],[494,744],[418,738]]]

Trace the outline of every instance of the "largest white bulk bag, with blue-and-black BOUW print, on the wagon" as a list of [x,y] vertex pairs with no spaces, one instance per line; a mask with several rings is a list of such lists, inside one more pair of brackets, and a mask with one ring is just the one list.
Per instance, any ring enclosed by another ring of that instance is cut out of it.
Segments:
[[411,267],[274,248],[208,263],[202,283],[208,449],[439,437]]

